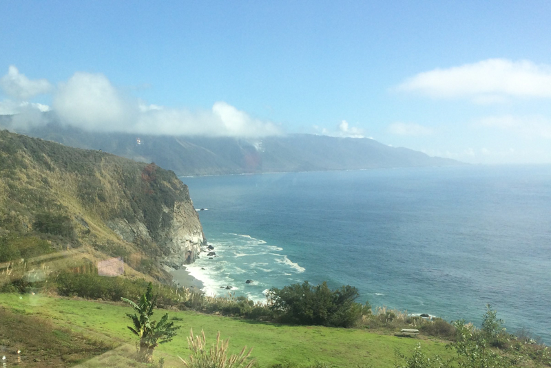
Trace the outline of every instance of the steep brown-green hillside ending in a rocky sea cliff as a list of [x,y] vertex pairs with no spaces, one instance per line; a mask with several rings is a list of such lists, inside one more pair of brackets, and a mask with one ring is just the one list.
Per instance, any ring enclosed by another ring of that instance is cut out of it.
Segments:
[[167,280],[204,243],[187,186],[173,172],[0,131],[0,268],[19,259],[85,267],[121,257],[127,275]]

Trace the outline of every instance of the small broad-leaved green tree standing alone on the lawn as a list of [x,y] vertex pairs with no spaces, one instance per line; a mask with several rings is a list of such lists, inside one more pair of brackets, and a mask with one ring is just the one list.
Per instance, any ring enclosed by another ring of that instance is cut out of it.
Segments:
[[127,326],[128,329],[140,338],[139,342],[136,343],[138,359],[143,362],[150,362],[153,356],[153,349],[158,344],[168,343],[172,340],[176,336],[176,331],[180,326],[174,326],[174,322],[169,322],[168,314],[161,317],[158,322],[151,320],[157,303],[157,296],[153,296],[152,283],[147,285],[147,290],[141,296],[138,304],[126,298],[121,299],[132,305],[137,313],[127,313],[126,315],[134,323],[134,327]]

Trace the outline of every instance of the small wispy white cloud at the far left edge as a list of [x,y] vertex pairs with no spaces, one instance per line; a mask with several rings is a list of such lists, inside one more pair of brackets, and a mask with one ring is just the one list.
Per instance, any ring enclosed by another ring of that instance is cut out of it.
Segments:
[[8,74],[0,78],[0,87],[8,96],[17,100],[26,100],[39,94],[48,93],[52,89],[48,80],[30,80],[25,74],[19,73],[14,65],[10,65]]

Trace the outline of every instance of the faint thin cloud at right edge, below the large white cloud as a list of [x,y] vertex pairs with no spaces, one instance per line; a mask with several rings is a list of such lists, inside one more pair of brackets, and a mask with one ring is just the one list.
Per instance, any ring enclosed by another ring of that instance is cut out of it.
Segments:
[[551,139],[551,121],[543,116],[488,116],[479,120],[484,127],[492,127],[526,138]]

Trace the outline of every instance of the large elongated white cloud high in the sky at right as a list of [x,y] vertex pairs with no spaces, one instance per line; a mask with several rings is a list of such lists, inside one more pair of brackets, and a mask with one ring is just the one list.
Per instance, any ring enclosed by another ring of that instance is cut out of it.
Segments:
[[483,104],[504,102],[507,97],[551,98],[551,65],[492,58],[419,73],[396,89],[433,98],[467,97]]

